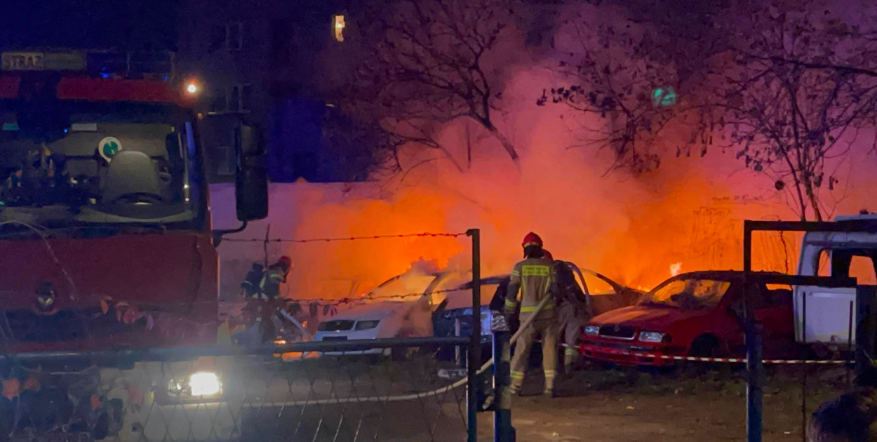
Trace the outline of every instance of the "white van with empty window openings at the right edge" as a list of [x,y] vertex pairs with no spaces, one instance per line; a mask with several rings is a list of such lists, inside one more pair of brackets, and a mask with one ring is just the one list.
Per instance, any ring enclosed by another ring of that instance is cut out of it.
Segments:
[[[852,220],[871,220],[877,224],[877,214],[835,218],[841,223]],[[798,274],[849,276],[856,278],[859,285],[875,285],[875,267],[877,233],[807,232],[804,235]],[[852,339],[855,345],[855,314],[854,288],[795,287],[795,339],[798,342],[849,346]]]

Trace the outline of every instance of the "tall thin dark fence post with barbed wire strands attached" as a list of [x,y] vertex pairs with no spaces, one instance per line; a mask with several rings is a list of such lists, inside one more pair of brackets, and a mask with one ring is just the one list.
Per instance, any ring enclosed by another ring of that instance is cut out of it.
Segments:
[[481,367],[481,231],[470,229],[472,237],[472,339],[467,361],[467,434],[468,442],[478,441],[478,368]]

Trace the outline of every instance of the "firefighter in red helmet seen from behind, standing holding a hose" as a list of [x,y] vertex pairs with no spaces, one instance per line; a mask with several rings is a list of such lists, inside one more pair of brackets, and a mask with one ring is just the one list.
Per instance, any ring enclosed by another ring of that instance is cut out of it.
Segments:
[[[507,315],[517,309],[517,294],[521,292],[520,322],[524,324],[536,310],[545,296],[552,296],[556,289],[553,284],[551,263],[545,260],[542,239],[530,232],[521,244],[524,247],[524,260],[515,264],[511,271],[509,291],[505,296],[504,310]],[[530,357],[530,349],[536,334],[542,337],[542,368],[545,371],[545,396],[554,397],[554,376],[557,365],[557,317],[554,300],[549,299],[533,322],[521,332],[517,349],[511,360],[511,391],[520,394],[524,385],[524,373]]]

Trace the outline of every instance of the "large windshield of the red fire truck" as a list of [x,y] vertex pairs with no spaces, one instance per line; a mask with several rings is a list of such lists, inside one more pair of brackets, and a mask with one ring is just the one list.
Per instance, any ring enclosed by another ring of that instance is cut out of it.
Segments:
[[55,102],[34,111],[0,102],[0,123],[0,221],[49,229],[203,222],[194,122],[182,108]]

